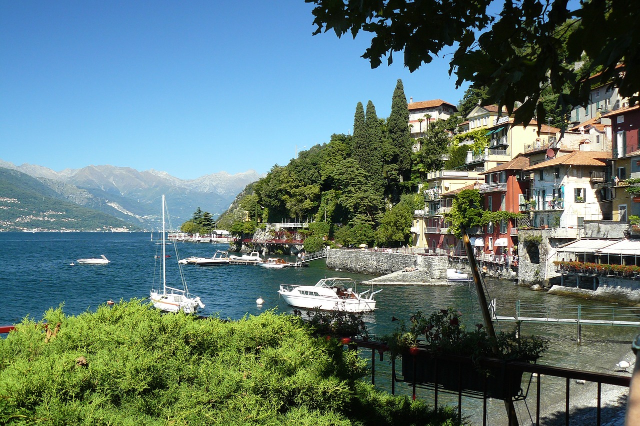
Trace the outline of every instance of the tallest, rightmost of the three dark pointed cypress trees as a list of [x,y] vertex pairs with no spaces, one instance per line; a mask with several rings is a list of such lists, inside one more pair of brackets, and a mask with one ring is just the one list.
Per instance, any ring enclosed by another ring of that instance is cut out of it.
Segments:
[[[391,100],[391,113],[387,120],[387,129],[391,138],[390,165],[397,164],[400,181],[410,177],[411,173],[411,141],[409,132],[409,108],[404,95],[402,80],[398,79],[394,96]],[[389,150],[388,150],[389,151]]]

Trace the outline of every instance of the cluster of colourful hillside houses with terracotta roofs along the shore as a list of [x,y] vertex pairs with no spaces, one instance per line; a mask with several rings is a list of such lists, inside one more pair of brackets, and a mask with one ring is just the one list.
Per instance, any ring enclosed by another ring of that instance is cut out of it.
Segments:
[[[442,100],[409,102],[408,108],[416,140],[429,122],[456,111]],[[518,279],[526,283],[636,289],[640,106],[630,106],[614,87],[598,86],[570,120],[564,132],[535,121],[525,127],[495,105],[476,106],[458,132],[486,130],[489,146],[476,152],[474,139],[463,138],[463,166],[428,173],[420,185],[424,209],[413,215],[412,245],[419,253],[462,255],[447,213],[462,191],[477,189],[484,210],[512,213],[469,230],[477,258],[518,265]]]

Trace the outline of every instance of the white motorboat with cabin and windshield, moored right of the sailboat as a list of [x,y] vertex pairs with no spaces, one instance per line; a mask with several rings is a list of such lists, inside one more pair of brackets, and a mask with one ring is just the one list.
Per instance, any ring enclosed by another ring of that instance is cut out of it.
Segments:
[[316,285],[282,284],[278,293],[285,302],[296,308],[370,312],[376,308],[374,294],[382,291],[371,290],[357,293],[354,280],[334,277],[323,278]]

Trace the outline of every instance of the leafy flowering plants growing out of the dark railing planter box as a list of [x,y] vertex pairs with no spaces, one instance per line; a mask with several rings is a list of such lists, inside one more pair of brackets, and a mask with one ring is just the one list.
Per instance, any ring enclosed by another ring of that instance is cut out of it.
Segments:
[[402,321],[396,332],[383,336],[394,358],[424,348],[439,354],[471,355],[473,359],[492,357],[535,361],[547,349],[547,340],[540,336],[518,337],[516,329],[488,335],[482,324],[467,330],[461,322],[462,314],[453,308],[442,309],[425,317],[422,312],[412,315],[409,323]]

